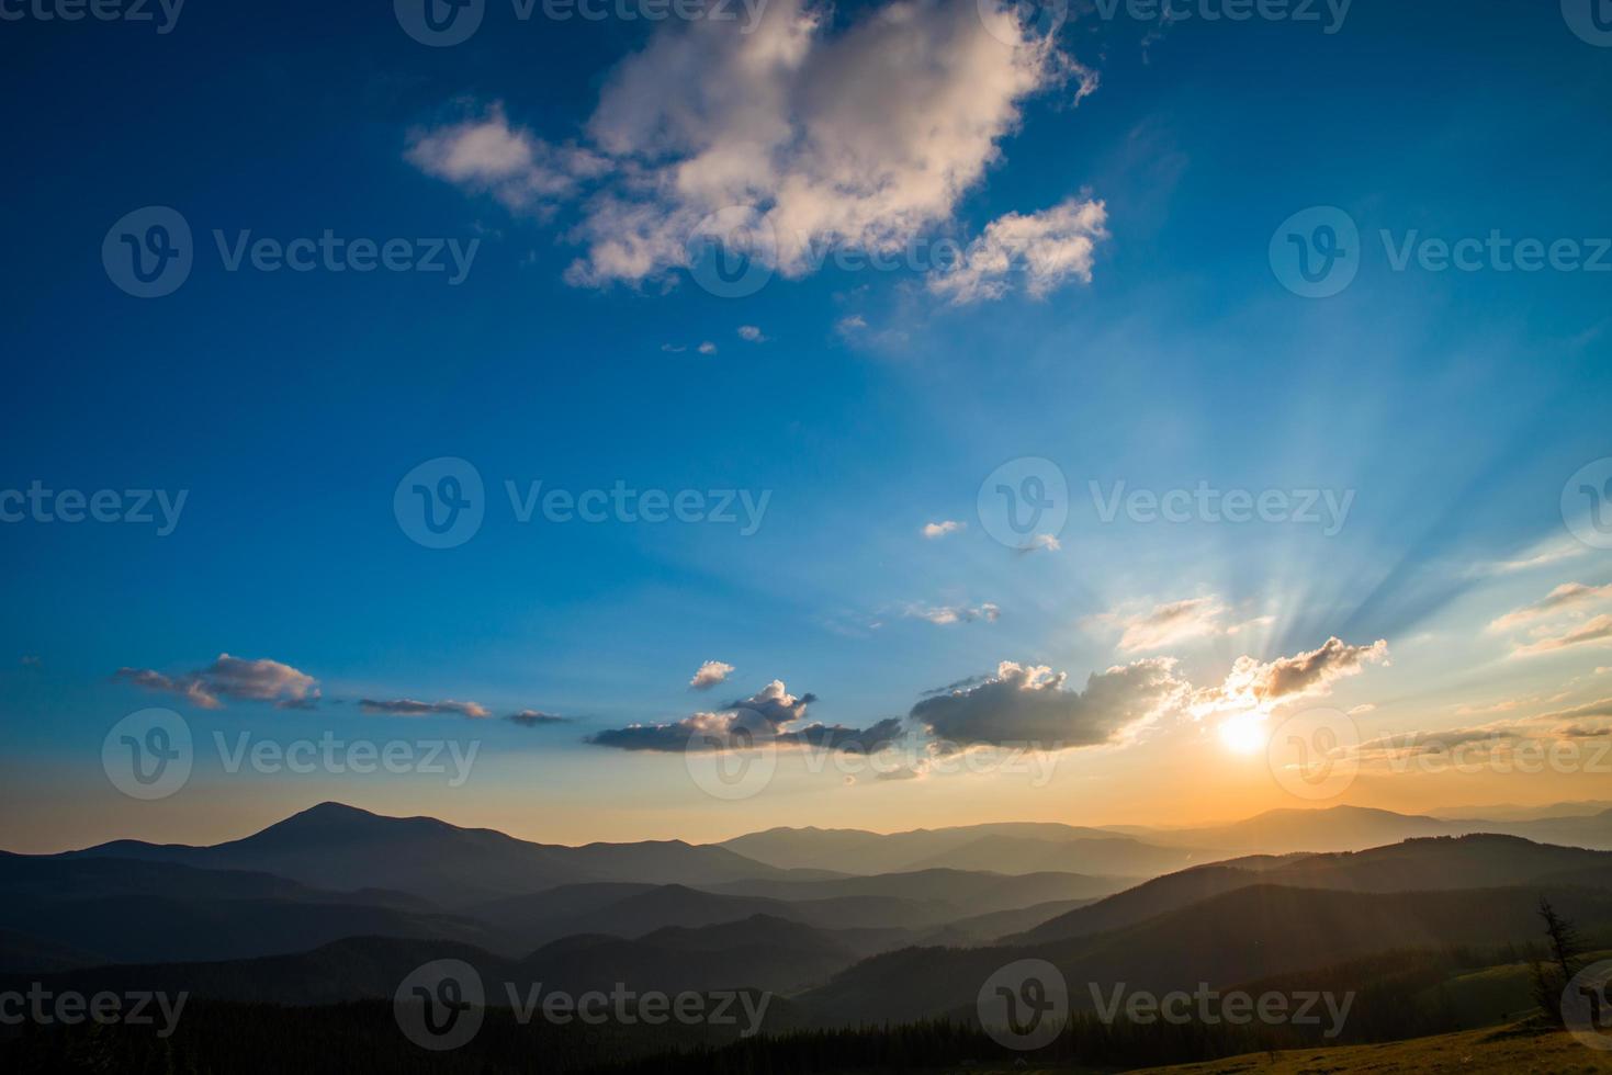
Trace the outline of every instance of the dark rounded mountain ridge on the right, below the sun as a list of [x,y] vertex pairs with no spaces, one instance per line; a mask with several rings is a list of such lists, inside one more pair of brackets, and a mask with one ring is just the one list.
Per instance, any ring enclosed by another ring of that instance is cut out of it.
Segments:
[[1538,845],[1519,836],[1436,836],[1354,853],[1254,856],[1169,874],[1043,922],[1004,944],[1090,936],[1251,885],[1346,891],[1433,891],[1523,883],[1594,883],[1612,853]]

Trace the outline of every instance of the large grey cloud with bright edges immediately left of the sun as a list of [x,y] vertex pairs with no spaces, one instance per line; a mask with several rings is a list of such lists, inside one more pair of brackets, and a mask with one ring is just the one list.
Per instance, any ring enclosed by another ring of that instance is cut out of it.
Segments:
[[1067,679],[1046,666],[1003,661],[995,677],[925,698],[911,717],[961,745],[1096,746],[1156,719],[1188,690],[1165,658],[1095,672],[1078,691],[1066,687]]

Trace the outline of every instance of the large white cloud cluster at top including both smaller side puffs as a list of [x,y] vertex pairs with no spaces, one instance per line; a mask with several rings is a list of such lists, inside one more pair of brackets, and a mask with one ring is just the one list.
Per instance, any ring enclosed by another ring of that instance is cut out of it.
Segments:
[[[408,156],[511,208],[566,197],[608,166],[567,234],[585,248],[566,271],[577,285],[687,268],[703,234],[801,277],[829,248],[895,255],[949,226],[1024,102],[1070,81],[1075,100],[1096,89],[1004,3],[896,0],[846,23],[827,3],[774,0],[750,32],[717,19],[658,29],[604,84],[588,150],[550,147],[495,105],[416,132]],[[1101,203],[1088,198],[1009,213],[937,290],[996,297],[1006,261],[1046,293],[1090,279],[1101,235]]]

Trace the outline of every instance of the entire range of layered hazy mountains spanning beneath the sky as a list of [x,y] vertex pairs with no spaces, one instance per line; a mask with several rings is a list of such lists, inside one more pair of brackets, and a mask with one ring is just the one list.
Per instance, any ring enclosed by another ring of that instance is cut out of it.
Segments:
[[1541,893],[1586,928],[1612,924],[1612,851],[1597,849],[1612,812],[1549,814],[1332,807],[1146,833],[782,828],[569,848],[326,803],[218,846],[0,853],[0,977],[137,973],[326,1002],[388,996],[458,954],[550,988],[796,994],[791,1019],[819,1023],[966,1009],[990,969],[1032,954],[1072,983],[1236,985],[1525,943]]

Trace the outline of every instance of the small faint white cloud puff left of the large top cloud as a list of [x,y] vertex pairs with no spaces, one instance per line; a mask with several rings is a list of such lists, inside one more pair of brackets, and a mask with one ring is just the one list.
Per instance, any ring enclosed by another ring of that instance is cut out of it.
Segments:
[[511,126],[498,102],[458,122],[413,131],[408,142],[405,156],[414,168],[516,211],[569,198],[582,179],[609,168],[596,153],[555,147]]

